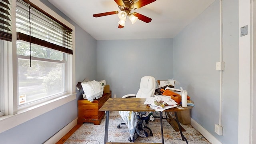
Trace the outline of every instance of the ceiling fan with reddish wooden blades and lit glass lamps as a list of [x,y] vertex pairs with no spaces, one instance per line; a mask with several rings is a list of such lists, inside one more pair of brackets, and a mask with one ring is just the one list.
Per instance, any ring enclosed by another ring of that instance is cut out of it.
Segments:
[[116,4],[118,5],[118,8],[120,8],[120,12],[118,11],[112,11],[112,12],[104,12],[100,14],[93,14],[94,17],[100,17],[100,16],[108,16],[112,14],[118,14],[118,18],[120,19],[118,24],[118,28],[124,28],[124,24],[126,21],[127,16],[129,16],[129,19],[131,20],[132,24],[136,22],[137,19],[149,23],[151,22],[151,18],[144,16],[142,14],[139,14],[137,12],[131,13],[132,10],[136,10],[138,8],[141,8],[142,6],[146,6],[147,4],[150,4],[156,0],[114,0]]

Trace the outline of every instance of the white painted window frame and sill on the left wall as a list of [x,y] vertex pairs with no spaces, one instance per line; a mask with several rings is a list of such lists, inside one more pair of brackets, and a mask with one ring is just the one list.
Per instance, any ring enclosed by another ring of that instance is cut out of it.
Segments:
[[[12,49],[9,49],[6,57],[7,62],[4,63],[5,68],[4,76],[7,76],[7,80],[4,83],[4,116],[0,116],[0,133],[10,128],[18,126],[32,118],[40,116],[50,110],[53,110],[59,106],[62,106],[70,101],[76,100],[76,84],[75,84],[75,27],[59,16],[56,12],[44,5],[40,0],[30,0],[33,4],[40,7],[48,14],[58,19],[60,22],[68,26],[73,30],[72,32],[72,50],[73,55],[67,56],[67,70],[68,76],[66,79],[67,94],[46,100],[39,104],[30,105],[24,108],[18,108],[18,63],[16,55],[16,0],[12,0]],[[8,84],[6,84],[8,83]],[[7,89],[6,89],[7,88]],[[25,113],[25,114],[24,114]],[[19,119],[18,121],[16,119]]]

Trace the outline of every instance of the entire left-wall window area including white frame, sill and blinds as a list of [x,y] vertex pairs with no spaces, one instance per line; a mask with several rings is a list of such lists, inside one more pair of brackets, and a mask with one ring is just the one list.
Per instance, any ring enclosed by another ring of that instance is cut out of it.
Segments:
[[0,0],[0,133],[76,100],[74,26],[40,0],[9,1]]

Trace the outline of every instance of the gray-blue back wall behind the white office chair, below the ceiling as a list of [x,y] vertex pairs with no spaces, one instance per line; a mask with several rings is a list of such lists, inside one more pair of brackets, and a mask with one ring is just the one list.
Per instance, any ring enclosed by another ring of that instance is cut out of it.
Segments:
[[172,38],[97,41],[97,79],[110,84],[116,97],[136,94],[140,78],[172,78]]

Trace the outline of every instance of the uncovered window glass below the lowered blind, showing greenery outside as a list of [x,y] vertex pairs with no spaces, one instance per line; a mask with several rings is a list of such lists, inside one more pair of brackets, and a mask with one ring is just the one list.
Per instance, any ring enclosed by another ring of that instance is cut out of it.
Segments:
[[66,54],[17,41],[18,103],[27,104],[66,92]]

